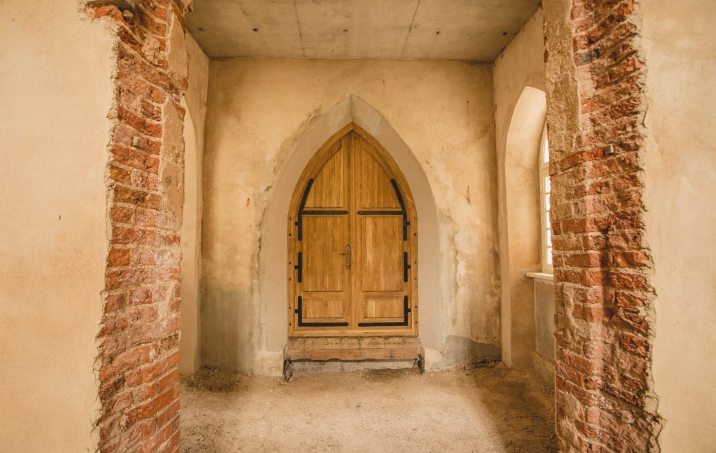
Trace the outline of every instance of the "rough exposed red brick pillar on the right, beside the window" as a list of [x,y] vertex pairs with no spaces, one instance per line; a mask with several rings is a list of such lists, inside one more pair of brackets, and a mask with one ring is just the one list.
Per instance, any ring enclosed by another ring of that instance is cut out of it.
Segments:
[[545,0],[561,452],[657,452],[634,0]]

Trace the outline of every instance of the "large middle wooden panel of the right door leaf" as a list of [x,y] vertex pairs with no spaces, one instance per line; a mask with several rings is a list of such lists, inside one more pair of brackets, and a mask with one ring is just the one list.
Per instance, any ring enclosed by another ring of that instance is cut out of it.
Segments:
[[360,291],[402,291],[402,217],[359,215]]

